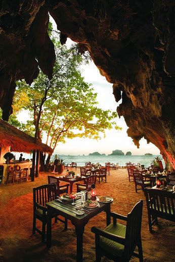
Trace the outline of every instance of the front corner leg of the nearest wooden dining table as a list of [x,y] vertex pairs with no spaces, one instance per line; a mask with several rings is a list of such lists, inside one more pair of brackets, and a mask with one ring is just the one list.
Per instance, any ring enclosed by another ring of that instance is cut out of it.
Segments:
[[75,225],[75,233],[76,233],[76,261],[82,262],[82,241],[83,241],[83,233],[84,226],[83,225]]

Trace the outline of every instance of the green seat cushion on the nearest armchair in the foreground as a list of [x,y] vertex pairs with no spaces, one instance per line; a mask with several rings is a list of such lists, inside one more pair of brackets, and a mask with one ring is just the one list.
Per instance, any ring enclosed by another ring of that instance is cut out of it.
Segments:
[[[125,237],[126,226],[118,223],[116,225],[110,224],[105,229],[105,231],[117,236]],[[124,245],[102,236],[100,236],[100,247],[103,248],[106,252],[120,257],[124,251]]]

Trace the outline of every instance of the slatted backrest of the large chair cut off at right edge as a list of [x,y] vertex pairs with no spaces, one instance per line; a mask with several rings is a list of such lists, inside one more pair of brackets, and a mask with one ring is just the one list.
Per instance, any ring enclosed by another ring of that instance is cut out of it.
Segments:
[[175,221],[175,194],[158,189],[145,188],[147,208],[157,215],[164,214],[164,218],[172,217]]

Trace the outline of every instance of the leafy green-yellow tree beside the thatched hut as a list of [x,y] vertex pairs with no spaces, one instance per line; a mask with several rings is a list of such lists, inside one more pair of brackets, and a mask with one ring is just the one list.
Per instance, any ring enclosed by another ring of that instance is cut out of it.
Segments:
[[82,57],[59,41],[55,41],[55,47],[56,63],[51,80],[40,71],[31,86],[25,81],[17,83],[14,111],[27,109],[31,116],[22,129],[35,138],[42,139],[45,134],[46,143],[53,149],[58,142],[65,142],[66,137],[98,139],[105,129],[113,126],[117,129],[114,121],[117,114],[97,107],[97,94],[81,77]]

